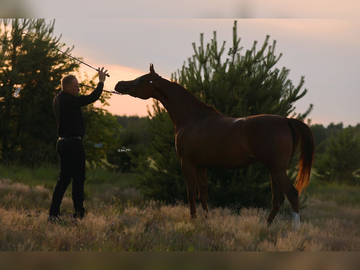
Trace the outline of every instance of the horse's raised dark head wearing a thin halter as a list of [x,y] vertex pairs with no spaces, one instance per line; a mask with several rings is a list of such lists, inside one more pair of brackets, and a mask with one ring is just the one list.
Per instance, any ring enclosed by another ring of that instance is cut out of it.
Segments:
[[150,63],[150,73],[140,76],[132,81],[120,81],[115,85],[115,91],[123,95],[134,96],[135,98],[149,99],[153,97],[154,80],[161,78],[155,71],[154,65]]

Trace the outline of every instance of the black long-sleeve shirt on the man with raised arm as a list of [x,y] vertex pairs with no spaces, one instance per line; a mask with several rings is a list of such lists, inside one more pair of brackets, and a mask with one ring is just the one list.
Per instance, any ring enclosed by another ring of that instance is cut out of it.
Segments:
[[104,83],[99,82],[90,95],[73,96],[61,91],[55,96],[53,108],[58,122],[59,137],[84,137],[85,126],[80,108],[98,100],[103,93],[103,87]]

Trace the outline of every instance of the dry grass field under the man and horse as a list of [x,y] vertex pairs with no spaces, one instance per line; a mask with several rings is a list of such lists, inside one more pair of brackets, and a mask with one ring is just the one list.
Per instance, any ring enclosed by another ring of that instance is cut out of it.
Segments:
[[[269,210],[212,208],[190,220],[187,205],[144,201],[134,174],[88,170],[84,206],[74,222],[71,185],[57,224],[46,221],[57,167],[0,166],[0,251],[359,251],[360,187],[311,181],[292,230],[285,201]],[[269,202],[270,207],[270,202]]]

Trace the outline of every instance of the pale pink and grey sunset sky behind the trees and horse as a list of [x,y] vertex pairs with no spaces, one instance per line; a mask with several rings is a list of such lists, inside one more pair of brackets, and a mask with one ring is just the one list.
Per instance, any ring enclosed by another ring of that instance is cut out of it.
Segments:
[[[84,23],[86,21],[80,21],[79,27]],[[101,45],[96,42],[89,45],[86,39],[91,40],[91,36],[88,37],[91,32],[87,33],[86,29],[81,36],[72,37],[64,30],[61,33],[66,44],[75,45],[73,55],[84,57],[84,61],[92,66],[101,63],[109,70],[110,77],[105,81],[105,89],[113,90],[120,80],[132,80],[148,73],[150,62],[154,63],[159,75],[170,79],[171,73],[181,68],[184,60],[193,54],[191,42],[199,44],[200,32],[204,32],[204,41],[209,42],[212,31],[216,30],[219,42],[227,40],[226,55],[231,45],[233,19],[129,19],[105,20],[104,23],[118,25],[121,35],[101,36],[104,40],[115,42],[115,46],[109,44],[111,48],[99,54],[96,50]],[[58,29],[65,26],[62,24],[63,21],[58,22]],[[166,33],[166,39],[158,39],[158,34],[149,33],[152,29]],[[359,30],[359,19],[238,20],[243,53],[251,48],[254,40],[258,40],[260,46],[266,34],[270,34],[270,40],[277,40],[276,54],[283,53],[278,67],[290,68],[289,78],[294,85],[302,75],[305,76],[308,93],[294,104],[295,111],[304,112],[310,103],[314,103],[314,110],[310,114],[312,123],[324,125],[331,122],[356,125],[360,122],[360,111],[357,109],[357,100],[360,100],[357,87],[357,73],[360,70]],[[83,65],[81,71],[92,74],[92,70]],[[113,114],[147,116],[147,107],[151,109],[153,101],[113,95],[109,103],[107,109]]]

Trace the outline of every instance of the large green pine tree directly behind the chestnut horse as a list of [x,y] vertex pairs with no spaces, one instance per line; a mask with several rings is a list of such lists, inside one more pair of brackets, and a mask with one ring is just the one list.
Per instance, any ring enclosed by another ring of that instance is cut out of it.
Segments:
[[[306,112],[298,114],[293,107],[294,102],[307,93],[306,89],[301,90],[304,77],[294,86],[287,78],[289,69],[275,67],[282,55],[275,55],[276,41],[269,45],[269,36],[266,36],[260,50],[255,41],[244,54],[240,54],[243,48],[239,44],[236,21],[233,46],[225,60],[222,60],[225,41],[219,49],[214,31],[211,42],[204,45],[201,33],[200,46],[192,44],[194,55],[188,58],[187,66],[184,63],[181,71],[172,74],[172,80],[229,117],[279,114],[304,120],[312,104]],[[143,174],[139,187],[156,200],[187,201],[186,184],[175,150],[174,125],[157,101],[153,107],[148,130],[155,138],[147,153],[134,159],[139,165],[136,171]],[[269,172],[260,163],[241,170],[208,169],[208,193],[208,201],[213,206],[268,206],[271,201]]]

